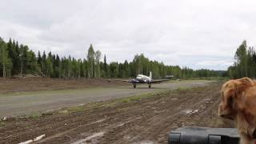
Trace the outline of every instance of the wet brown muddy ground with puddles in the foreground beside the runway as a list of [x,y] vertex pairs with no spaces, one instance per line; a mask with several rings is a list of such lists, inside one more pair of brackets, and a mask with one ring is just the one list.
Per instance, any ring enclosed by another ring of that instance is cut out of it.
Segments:
[[221,82],[107,102],[94,102],[0,124],[0,143],[166,143],[180,126],[233,127],[217,115]]

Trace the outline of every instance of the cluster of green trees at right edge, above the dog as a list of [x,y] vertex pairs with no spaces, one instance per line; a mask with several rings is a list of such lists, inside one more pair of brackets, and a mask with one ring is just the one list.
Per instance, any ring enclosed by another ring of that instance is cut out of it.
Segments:
[[228,73],[231,78],[256,78],[255,48],[247,47],[246,41],[243,41],[234,54],[234,65],[228,68]]

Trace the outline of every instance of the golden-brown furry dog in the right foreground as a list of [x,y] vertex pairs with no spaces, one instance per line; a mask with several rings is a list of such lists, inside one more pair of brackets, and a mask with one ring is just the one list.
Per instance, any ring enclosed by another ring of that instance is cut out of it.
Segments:
[[222,85],[218,115],[235,121],[241,144],[256,140],[256,81],[250,78],[230,80]]

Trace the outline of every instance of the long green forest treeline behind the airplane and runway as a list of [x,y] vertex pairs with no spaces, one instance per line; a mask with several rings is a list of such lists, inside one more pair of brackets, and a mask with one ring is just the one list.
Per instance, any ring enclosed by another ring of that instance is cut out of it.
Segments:
[[10,39],[5,42],[0,38],[0,76],[34,74],[50,78],[131,78],[137,74],[149,75],[154,78],[198,78],[219,77],[222,71],[192,70],[179,66],[166,66],[163,62],[151,61],[143,54],[134,56],[132,62],[106,62],[99,50],[94,51],[90,45],[86,58],[60,58],[58,54],[45,51],[35,54],[28,46],[19,45]]

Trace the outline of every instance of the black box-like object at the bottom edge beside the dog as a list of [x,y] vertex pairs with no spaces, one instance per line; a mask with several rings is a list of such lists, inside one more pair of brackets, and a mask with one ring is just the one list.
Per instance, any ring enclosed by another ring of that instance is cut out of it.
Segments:
[[234,128],[182,127],[171,131],[168,144],[238,144]]

